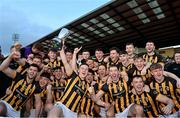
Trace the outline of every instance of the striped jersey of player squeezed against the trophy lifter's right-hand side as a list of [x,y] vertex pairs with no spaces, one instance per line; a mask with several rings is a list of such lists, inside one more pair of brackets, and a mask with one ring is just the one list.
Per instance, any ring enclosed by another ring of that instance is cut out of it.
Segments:
[[[89,83],[86,84],[87,89],[90,86]],[[82,98],[79,113],[86,116],[94,116],[94,101],[91,99],[89,92]]]

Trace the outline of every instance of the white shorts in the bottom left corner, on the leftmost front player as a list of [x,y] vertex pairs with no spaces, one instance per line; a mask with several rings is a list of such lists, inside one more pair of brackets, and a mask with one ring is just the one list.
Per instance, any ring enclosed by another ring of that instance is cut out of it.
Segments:
[[20,111],[14,110],[14,108],[7,103],[6,101],[0,100],[0,102],[4,103],[7,108],[7,117],[20,117]]

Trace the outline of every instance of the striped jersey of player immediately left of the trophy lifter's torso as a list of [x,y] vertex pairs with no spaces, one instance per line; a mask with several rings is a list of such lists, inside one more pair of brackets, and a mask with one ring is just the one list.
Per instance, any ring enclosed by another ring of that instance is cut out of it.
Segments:
[[62,97],[67,82],[65,83],[60,82],[60,79],[54,78],[52,81],[52,87],[53,87],[53,98],[54,101],[60,101],[60,98]]

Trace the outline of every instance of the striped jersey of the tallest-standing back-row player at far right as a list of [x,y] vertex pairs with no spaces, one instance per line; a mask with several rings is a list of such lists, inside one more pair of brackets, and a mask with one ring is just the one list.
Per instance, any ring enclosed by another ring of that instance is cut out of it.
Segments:
[[143,59],[145,60],[145,62],[150,62],[150,63],[164,63],[165,62],[165,58],[162,55],[157,54],[157,53],[155,53],[154,55],[144,54]]

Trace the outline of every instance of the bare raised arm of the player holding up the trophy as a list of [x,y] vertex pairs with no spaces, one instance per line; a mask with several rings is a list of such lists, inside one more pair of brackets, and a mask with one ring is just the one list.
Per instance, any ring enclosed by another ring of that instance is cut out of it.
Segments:
[[67,74],[67,76],[70,76],[73,73],[73,69],[69,65],[69,63],[67,62],[67,59],[66,59],[66,55],[64,52],[64,40],[62,40],[62,43],[63,44],[62,44],[62,49],[60,50],[60,56],[61,56],[62,62],[64,64],[66,74]]

